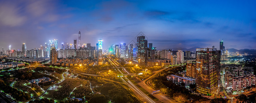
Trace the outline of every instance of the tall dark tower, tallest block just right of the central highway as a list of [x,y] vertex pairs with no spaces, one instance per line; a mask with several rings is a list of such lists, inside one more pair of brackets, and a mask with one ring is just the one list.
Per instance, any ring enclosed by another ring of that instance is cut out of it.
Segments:
[[138,36],[137,37],[137,61],[139,65],[146,65],[146,48],[147,48],[147,41],[145,40],[145,36]]

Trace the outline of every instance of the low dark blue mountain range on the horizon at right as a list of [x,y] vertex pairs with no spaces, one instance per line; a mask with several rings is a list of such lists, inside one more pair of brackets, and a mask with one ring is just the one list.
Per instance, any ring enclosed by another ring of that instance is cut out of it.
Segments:
[[[193,51],[194,53],[196,52],[196,48],[202,48],[202,47],[193,47],[193,48],[166,48],[167,50],[169,49],[173,49],[175,51],[177,50],[183,50],[183,51]],[[240,49],[240,50],[237,50],[237,49],[234,49],[234,48],[231,48],[231,49],[228,49],[228,52],[239,52],[239,54],[245,54],[245,53],[248,53],[249,55],[256,55],[256,49]]]

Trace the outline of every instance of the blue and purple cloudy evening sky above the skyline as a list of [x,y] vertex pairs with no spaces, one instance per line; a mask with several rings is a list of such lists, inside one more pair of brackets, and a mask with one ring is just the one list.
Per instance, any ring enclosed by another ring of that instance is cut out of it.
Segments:
[[256,49],[256,1],[239,0],[1,0],[0,47],[38,48],[50,39],[103,48],[130,43],[140,32],[157,49]]

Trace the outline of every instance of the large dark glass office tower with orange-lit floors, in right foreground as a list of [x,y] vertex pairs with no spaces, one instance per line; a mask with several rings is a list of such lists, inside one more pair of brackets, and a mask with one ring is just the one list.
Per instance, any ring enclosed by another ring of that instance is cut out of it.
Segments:
[[196,91],[206,95],[219,92],[220,50],[196,48]]

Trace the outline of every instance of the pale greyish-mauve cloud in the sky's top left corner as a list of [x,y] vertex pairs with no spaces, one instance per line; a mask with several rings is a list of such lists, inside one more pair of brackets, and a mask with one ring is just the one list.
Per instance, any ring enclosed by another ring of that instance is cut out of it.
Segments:
[[0,25],[20,26],[26,21],[26,17],[19,14],[21,8],[13,4],[0,2]]

